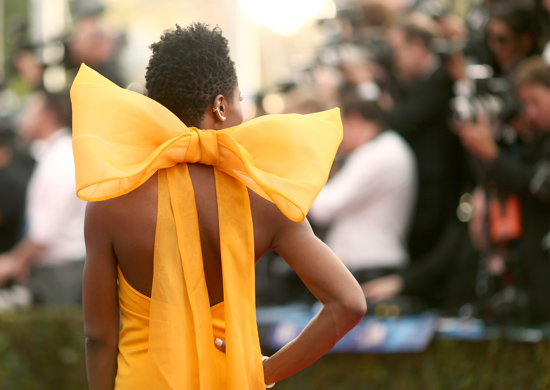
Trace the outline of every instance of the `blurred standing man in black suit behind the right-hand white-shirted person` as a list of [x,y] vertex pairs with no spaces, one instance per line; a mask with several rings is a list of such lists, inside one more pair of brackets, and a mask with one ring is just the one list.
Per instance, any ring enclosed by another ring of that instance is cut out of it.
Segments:
[[397,79],[388,122],[409,143],[418,166],[419,193],[409,237],[412,262],[427,254],[454,218],[462,181],[463,150],[449,131],[453,80],[431,50],[439,25],[412,13],[388,33]]

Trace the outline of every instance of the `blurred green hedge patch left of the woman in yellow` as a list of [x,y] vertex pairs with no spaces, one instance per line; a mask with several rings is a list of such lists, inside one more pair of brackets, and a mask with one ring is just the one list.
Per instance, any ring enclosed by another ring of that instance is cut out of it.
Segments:
[[87,389],[80,308],[41,307],[0,316],[1,390]]

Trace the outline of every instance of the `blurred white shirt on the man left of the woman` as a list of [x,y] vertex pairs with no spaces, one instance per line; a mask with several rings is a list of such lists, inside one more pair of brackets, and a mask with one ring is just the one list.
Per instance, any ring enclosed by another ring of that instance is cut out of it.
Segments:
[[72,137],[59,129],[32,145],[36,166],[27,188],[27,236],[42,246],[36,264],[83,260],[86,202],[76,197]]

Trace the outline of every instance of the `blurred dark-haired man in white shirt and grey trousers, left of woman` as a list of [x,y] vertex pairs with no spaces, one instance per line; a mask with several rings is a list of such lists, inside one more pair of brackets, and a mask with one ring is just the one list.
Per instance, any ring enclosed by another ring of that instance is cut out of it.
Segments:
[[0,255],[0,287],[26,283],[37,303],[79,303],[84,268],[84,212],[76,197],[68,95],[37,92],[18,133],[36,165],[27,188],[26,234]]

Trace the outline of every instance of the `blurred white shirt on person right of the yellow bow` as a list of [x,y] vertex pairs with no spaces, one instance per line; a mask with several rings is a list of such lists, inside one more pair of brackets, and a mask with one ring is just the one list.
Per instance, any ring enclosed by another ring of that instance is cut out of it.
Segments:
[[357,147],[307,215],[329,225],[326,243],[351,270],[403,267],[416,196],[416,160],[393,130]]

